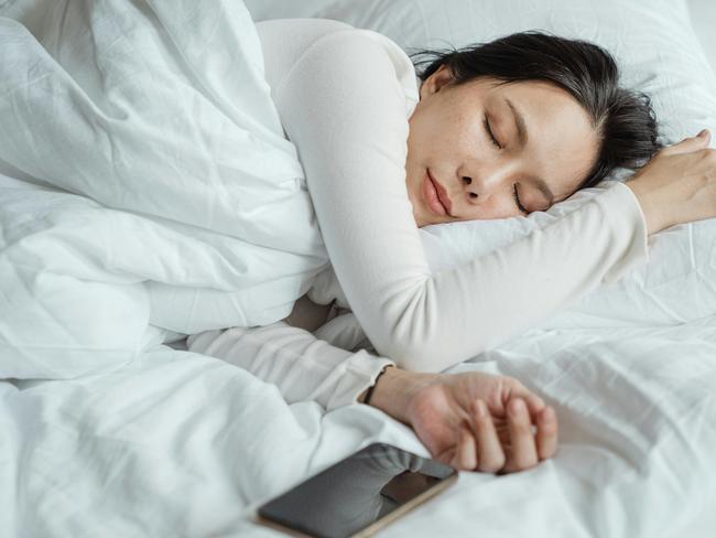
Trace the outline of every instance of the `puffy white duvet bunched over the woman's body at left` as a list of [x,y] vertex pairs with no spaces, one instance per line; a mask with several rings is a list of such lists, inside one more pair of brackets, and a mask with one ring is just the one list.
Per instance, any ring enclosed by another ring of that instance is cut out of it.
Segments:
[[0,14],[0,375],[112,368],[153,326],[285,318],[327,256],[246,9]]

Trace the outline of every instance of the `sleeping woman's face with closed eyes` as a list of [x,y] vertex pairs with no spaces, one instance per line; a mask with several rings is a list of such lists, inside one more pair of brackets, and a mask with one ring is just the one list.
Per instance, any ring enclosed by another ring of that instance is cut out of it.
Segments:
[[498,84],[457,85],[446,66],[423,83],[405,163],[417,226],[545,211],[586,179],[598,140],[577,100],[545,82]]

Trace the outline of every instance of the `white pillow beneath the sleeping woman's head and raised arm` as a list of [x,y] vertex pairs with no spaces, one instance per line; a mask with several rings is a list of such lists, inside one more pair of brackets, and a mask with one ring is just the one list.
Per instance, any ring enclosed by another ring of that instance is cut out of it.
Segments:
[[[257,20],[318,17],[383,33],[404,50],[464,46],[523,30],[545,30],[605,46],[621,84],[648,93],[663,143],[709,128],[716,140],[716,77],[683,0],[247,0]],[[713,144],[714,142],[712,142]],[[630,172],[615,171],[608,180]],[[543,227],[599,186],[576,193],[528,218],[474,220],[421,229],[433,269],[459,263]],[[542,327],[672,324],[716,312],[716,219],[663,230],[650,238],[650,261],[619,282],[603,283]]]

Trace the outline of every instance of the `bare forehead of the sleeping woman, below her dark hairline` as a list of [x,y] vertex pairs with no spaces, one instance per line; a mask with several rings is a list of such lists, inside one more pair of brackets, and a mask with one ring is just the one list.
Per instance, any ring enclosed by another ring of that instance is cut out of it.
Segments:
[[584,107],[549,82],[478,83],[486,111],[503,137],[517,141],[516,112],[524,119],[528,140],[523,147],[512,144],[512,157],[543,177],[557,200],[569,195],[584,181],[598,151],[598,136]]

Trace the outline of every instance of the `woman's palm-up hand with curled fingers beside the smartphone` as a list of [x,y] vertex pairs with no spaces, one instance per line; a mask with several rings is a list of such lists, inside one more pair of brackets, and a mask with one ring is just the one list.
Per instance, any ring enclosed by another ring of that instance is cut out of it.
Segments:
[[554,410],[511,377],[390,367],[370,404],[410,424],[433,458],[460,470],[522,471],[556,452]]

